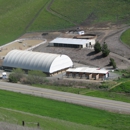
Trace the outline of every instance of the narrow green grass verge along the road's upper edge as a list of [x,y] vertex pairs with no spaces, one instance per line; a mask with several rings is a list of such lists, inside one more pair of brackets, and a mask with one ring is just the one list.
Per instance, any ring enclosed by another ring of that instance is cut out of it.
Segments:
[[[47,88],[52,90],[58,90],[63,92],[70,92],[75,94],[81,94],[86,96],[93,96],[99,98],[106,98],[111,100],[123,101],[130,103],[130,95],[128,93],[120,93],[115,90],[102,90],[102,89],[88,89],[88,88],[76,88],[65,86],[52,86],[52,85],[35,85],[36,87]],[[116,86],[117,88],[118,86]]]

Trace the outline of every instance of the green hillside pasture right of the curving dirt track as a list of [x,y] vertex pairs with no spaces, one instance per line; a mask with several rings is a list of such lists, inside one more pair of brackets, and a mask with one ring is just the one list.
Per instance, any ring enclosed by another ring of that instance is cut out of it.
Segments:
[[123,0],[57,0],[51,9],[77,23],[117,22],[130,16],[129,1]]

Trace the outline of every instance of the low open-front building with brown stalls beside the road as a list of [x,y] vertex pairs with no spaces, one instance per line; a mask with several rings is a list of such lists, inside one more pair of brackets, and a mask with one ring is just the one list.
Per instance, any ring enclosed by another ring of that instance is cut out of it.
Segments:
[[79,67],[70,68],[66,71],[67,77],[73,78],[86,78],[86,79],[107,79],[109,77],[109,71],[99,68]]

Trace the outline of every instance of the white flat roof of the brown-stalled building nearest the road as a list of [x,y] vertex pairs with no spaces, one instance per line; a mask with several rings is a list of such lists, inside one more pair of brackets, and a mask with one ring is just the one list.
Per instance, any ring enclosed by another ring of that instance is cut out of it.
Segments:
[[109,71],[99,68],[79,67],[79,68],[70,68],[67,70],[67,72],[107,74]]

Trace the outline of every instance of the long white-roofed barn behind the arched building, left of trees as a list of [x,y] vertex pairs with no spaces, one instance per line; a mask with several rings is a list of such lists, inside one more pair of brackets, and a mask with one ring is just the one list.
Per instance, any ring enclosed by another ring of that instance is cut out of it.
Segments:
[[72,48],[93,48],[95,40],[73,39],[73,38],[56,38],[49,43],[55,47],[72,47]]

